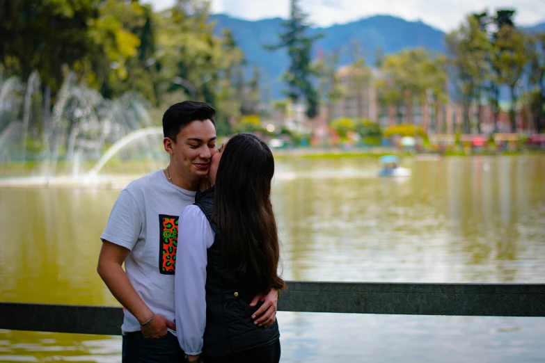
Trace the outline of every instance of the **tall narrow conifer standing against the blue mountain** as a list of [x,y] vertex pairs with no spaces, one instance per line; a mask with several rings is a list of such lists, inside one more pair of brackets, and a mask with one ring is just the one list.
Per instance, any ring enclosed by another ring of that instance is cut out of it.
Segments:
[[307,18],[308,15],[301,10],[299,0],[291,0],[290,19],[282,24],[284,32],[279,35],[280,42],[277,45],[269,45],[267,48],[287,49],[291,63],[283,77],[287,83],[286,95],[292,102],[305,98],[306,115],[309,118],[315,118],[318,114],[319,97],[313,86],[315,73],[311,67],[310,51],[320,35],[306,35],[310,27],[306,22]]

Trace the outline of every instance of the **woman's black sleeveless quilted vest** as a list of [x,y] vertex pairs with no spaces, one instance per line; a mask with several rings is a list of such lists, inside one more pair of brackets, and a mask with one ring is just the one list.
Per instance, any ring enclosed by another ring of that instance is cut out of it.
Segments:
[[204,353],[210,357],[222,357],[251,348],[274,344],[280,337],[278,323],[269,328],[253,324],[252,314],[258,307],[250,302],[258,293],[243,279],[230,277],[221,258],[221,233],[212,220],[214,188],[198,192],[195,204],[205,213],[216,233],[214,243],[208,249],[206,267],[206,329]]

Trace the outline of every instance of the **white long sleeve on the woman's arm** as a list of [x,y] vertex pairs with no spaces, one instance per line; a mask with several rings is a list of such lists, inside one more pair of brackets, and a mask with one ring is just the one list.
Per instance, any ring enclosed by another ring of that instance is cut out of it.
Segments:
[[207,249],[214,236],[205,213],[196,205],[185,207],[178,219],[174,303],[176,336],[187,355],[203,352]]

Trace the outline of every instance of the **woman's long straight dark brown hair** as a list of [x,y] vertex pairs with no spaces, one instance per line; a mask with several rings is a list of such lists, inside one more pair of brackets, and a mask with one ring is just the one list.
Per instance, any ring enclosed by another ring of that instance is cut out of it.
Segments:
[[273,175],[274,158],[267,144],[253,134],[237,134],[223,150],[214,191],[226,268],[265,293],[285,289],[278,276],[278,229],[269,200]]

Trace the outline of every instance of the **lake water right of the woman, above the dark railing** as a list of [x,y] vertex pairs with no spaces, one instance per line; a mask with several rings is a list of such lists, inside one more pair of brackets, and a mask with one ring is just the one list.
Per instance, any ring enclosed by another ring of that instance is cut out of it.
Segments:
[[[374,167],[335,162],[364,174]],[[545,268],[525,266],[545,258],[544,184],[528,188],[545,181],[535,172],[542,163],[415,161],[411,179],[324,179],[311,172],[323,160],[294,163],[298,171],[277,180],[273,196],[287,272],[297,280],[540,282]],[[529,230],[537,235],[521,236]]]

